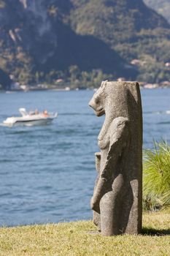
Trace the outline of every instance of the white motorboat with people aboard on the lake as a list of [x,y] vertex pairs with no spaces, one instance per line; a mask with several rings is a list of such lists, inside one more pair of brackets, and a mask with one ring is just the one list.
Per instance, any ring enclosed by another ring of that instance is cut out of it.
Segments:
[[39,113],[38,110],[27,113],[26,108],[20,108],[19,111],[21,116],[8,117],[3,121],[3,125],[7,127],[45,125],[50,124],[58,116],[58,113],[47,113],[47,110],[42,113]]

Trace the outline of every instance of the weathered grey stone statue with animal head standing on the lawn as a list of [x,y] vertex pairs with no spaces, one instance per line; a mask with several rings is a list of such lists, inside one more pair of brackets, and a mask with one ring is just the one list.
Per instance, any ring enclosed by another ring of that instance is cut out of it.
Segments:
[[105,114],[91,198],[93,222],[103,236],[142,229],[142,104],[136,82],[101,83],[89,105]]

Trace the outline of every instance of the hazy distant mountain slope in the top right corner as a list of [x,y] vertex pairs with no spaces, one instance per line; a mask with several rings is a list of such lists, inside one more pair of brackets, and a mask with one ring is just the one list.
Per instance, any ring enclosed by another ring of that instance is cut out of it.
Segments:
[[170,1],[169,0],[144,0],[144,3],[156,12],[163,15],[170,23]]

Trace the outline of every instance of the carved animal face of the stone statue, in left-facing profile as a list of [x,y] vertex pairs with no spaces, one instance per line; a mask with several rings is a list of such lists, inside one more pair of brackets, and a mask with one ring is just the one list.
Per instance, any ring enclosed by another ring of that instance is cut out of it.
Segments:
[[101,87],[93,95],[93,98],[90,100],[88,105],[93,108],[96,113],[96,116],[103,116],[105,114],[104,108],[104,89],[106,82],[101,83]]

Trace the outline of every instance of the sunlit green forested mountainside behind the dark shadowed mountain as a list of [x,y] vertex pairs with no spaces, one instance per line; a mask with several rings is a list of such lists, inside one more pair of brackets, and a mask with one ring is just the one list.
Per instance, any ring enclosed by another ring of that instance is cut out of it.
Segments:
[[72,0],[77,34],[93,34],[126,61],[139,62],[138,80],[169,80],[170,25],[142,0]]

